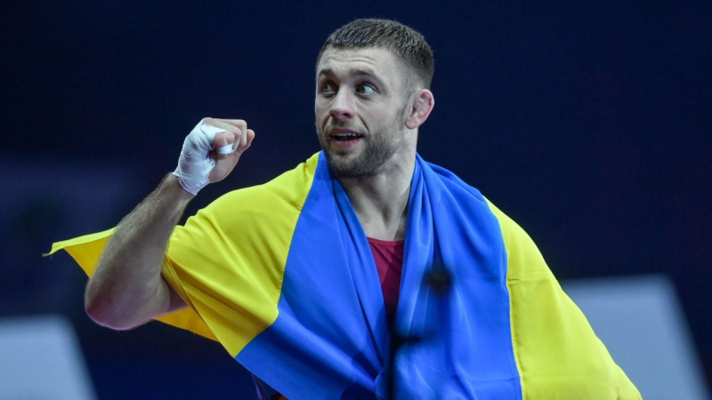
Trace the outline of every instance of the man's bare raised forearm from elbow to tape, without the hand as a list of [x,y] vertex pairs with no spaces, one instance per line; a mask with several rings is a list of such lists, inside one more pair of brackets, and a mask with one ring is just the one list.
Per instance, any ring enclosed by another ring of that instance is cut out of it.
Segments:
[[86,285],[86,313],[97,323],[129,329],[185,307],[161,277],[168,238],[193,196],[169,174],[122,220]]

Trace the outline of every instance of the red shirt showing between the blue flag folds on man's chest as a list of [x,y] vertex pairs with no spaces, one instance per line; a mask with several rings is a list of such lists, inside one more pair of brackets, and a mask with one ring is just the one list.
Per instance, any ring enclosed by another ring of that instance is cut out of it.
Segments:
[[398,307],[398,297],[401,293],[401,272],[403,269],[404,240],[378,240],[368,237],[368,244],[376,260],[378,277],[381,278],[381,289],[384,293],[385,312],[389,322],[395,316]]

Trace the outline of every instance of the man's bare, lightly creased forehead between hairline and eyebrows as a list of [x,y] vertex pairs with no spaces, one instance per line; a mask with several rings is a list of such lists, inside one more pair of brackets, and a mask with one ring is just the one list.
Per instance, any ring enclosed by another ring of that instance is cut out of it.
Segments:
[[321,54],[317,65],[317,76],[327,72],[335,75],[347,75],[354,70],[360,70],[378,77],[393,78],[399,75],[402,68],[401,60],[383,48],[328,48]]

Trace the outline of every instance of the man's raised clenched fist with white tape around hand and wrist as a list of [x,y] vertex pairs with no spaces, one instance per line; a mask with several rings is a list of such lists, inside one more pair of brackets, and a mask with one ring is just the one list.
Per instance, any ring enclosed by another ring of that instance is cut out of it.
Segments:
[[183,142],[173,174],[193,195],[211,182],[225,179],[239,156],[250,147],[255,131],[241,119],[203,118]]

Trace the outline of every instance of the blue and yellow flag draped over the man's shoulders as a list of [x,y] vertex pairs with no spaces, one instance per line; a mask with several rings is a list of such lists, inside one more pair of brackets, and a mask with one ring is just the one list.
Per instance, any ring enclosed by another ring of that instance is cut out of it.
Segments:
[[[417,156],[395,326],[399,398],[638,399],[535,244]],[[91,276],[112,231],[54,244]],[[433,268],[449,290],[424,283]],[[322,153],[176,227],[163,276],[189,304],[159,320],[219,340],[290,399],[384,398],[391,332],[375,262]]]

